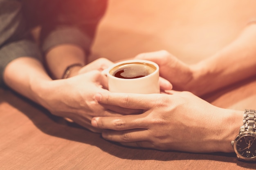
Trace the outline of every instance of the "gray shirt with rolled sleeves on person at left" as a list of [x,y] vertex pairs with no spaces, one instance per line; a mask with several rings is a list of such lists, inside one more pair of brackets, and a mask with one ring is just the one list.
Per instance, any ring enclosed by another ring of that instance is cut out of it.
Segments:
[[[42,56],[58,44],[76,44],[89,53],[107,0],[0,0],[0,86],[12,60]],[[39,43],[31,29],[40,27]]]

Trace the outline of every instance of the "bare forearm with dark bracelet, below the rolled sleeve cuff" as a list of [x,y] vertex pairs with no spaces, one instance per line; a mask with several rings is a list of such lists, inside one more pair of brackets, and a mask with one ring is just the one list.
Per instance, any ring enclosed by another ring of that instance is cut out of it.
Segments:
[[[65,69],[72,64],[86,64],[85,52],[79,46],[61,44],[51,49],[45,55],[45,63],[53,79],[61,79]],[[72,74],[77,74],[81,66],[72,68]],[[72,76],[72,75],[70,75]]]

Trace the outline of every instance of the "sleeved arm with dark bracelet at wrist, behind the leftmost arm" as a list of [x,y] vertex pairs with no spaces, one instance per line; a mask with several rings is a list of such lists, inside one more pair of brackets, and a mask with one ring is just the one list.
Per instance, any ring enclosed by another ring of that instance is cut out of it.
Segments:
[[86,57],[105,10],[106,0],[65,1],[49,10],[51,17],[43,22],[41,44],[45,64],[54,79],[61,79],[72,64],[81,66],[72,68],[70,77],[88,64]]

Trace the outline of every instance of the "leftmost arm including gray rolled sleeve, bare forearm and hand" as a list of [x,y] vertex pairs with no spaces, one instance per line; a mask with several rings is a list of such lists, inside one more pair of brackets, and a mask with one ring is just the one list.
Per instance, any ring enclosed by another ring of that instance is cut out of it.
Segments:
[[[107,88],[106,76],[99,71],[90,71],[69,79],[52,80],[38,60],[41,53],[29,37],[29,29],[21,9],[19,1],[0,2],[3,14],[0,15],[1,85],[5,83],[54,115],[70,118],[89,130],[99,132],[98,128],[90,124],[92,117],[119,115],[108,112],[94,99],[96,91]],[[92,65],[88,67],[92,68]],[[87,66],[83,69],[86,70]]]

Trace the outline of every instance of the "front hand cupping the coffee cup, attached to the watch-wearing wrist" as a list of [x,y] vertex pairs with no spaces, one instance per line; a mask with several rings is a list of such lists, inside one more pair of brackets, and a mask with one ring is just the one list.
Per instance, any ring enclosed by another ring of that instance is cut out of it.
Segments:
[[95,98],[102,104],[144,110],[138,115],[94,117],[92,126],[105,129],[103,138],[159,150],[233,152],[230,141],[236,137],[243,115],[243,111],[213,106],[190,92],[102,92]]

